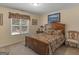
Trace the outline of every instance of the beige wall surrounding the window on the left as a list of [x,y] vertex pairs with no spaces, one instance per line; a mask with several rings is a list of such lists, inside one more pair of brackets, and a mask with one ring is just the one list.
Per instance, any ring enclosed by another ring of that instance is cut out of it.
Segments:
[[[0,47],[22,41],[22,40],[24,40],[24,37],[26,35],[26,34],[25,35],[14,35],[14,36],[10,35],[10,33],[11,33],[10,19],[8,18],[8,15],[9,15],[8,12],[26,14],[26,15],[30,15],[31,19],[32,18],[35,18],[37,20],[39,19],[39,16],[32,15],[32,14],[24,12],[24,11],[0,7],[0,13],[3,14],[3,25],[2,26],[0,25]],[[30,20],[30,32],[31,33],[35,32],[37,27],[38,27],[38,25],[36,25],[36,26],[31,25],[31,20]]]

